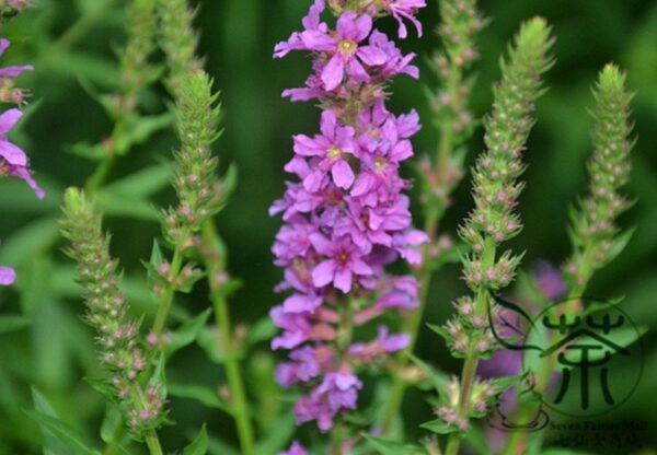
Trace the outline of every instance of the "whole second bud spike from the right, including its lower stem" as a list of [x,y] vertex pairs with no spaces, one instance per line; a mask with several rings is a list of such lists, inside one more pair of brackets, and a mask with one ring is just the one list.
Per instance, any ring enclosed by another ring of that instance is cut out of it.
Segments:
[[[509,58],[503,60],[493,112],[484,119],[486,151],[473,170],[475,208],[460,229],[461,237],[472,248],[463,260],[463,278],[474,296],[457,303],[459,312],[446,327],[452,353],[464,358],[459,399],[452,406],[456,420],[446,419],[460,430],[468,428],[468,419],[482,412],[475,409],[473,396],[479,359],[495,350],[487,320],[487,310],[493,306],[491,293],[509,284],[521,258],[509,250],[498,254],[498,247],[521,230],[515,212],[522,189],[518,182],[525,171],[521,156],[533,125],[534,102],[543,92],[541,74],[551,66],[551,44],[550,27],[543,19],[522,24]],[[447,454],[457,454],[459,445],[460,433],[452,433]]]

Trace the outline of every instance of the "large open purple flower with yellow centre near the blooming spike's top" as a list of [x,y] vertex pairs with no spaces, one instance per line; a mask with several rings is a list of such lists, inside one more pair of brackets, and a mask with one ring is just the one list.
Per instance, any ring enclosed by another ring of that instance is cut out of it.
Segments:
[[385,62],[387,56],[381,49],[370,45],[359,46],[371,30],[372,18],[345,11],[337,20],[336,36],[319,28],[301,34],[308,49],[331,55],[321,74],[327,91],[334,90],[343,82],[345,72],[355,80],[365,82],[369,80],[369,74],[362,67],[364,63],[374,67]]

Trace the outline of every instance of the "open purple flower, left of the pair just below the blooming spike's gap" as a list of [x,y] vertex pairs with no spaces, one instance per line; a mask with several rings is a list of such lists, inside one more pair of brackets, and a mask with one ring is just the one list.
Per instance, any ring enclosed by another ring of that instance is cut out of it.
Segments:
[[331,171],[333,183],[339,188],[348,188],[354,183],[354,171],[347,162],[347,154],[354,154],[354,128],[339,126],[333,110],[324,110],[321,121],[321,135],[309,138],[295,136],[295,152],[301,156],[319,156],[314,171],[303,179],[303,187],[316,192],[325,186],[326,172]]

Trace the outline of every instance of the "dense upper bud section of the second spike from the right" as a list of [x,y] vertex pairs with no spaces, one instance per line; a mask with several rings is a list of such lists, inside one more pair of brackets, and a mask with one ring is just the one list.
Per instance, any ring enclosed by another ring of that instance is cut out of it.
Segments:
[[502,63],[503,80],[494,88],[493,113],[484,119],[487,150],[473,171],[475,209],[461,230],[475,255],[484,250],[486,240],[497,245],[521,230],[514,212],[522,190],[517,179],[525,171],[521,154],[533,126],[534,101],[543,92],[541,73],[552,65],[546,56],[552,44],[549,36],[544,20],[526,23],[508,62]]

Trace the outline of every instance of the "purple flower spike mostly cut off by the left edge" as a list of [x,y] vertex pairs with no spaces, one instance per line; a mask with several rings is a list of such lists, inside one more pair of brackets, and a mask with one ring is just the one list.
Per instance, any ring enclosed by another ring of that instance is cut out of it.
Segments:
[[[0,26],[8,15],[14,15],[25,8],[26,2],[7,1],[0,2]],[[0,37],[0,57],[9,48],[9,39]],[[0,103],[15,104],[16,107],[0,114],[0,179],[5,177],[18,177],[23,179],[32,188],[37,198],[43,199],[44,190],[36,184],[30,170],[30,161],[25,152],[11,142],[8,133],[23,116],[21,107],[25,104],[26,91],[15,86],[15,78],[23,71],[31,71],[30,65],[20,67],[0,68]],[[16,279],[13,268],[0,266],[0,285],[10,285]]]

